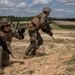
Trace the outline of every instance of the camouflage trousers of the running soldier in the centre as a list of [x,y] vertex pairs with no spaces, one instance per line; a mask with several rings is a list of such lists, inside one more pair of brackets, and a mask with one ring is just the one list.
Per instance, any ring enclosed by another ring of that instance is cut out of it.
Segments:
[[29,31],[30,36],[30,45],[28,46],[26,50],[26,54],[29,55],[35,55],[36,50],[39,48],[39,46],[43,43],[43,39],[40,35],[40,33],[36,30]]

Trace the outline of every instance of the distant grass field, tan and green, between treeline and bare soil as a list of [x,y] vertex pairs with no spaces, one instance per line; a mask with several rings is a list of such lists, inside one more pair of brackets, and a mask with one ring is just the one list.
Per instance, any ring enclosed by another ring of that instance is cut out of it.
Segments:
[[[19,26],[28,25],[30,21],[21,21]],[[13,22],[13,27],[17,25],[17,22]],[[69,30],[75,30],[75,22],[70,21],[54,21],[50,25],[54,30],[60,30],[60,29],[69,29]]]

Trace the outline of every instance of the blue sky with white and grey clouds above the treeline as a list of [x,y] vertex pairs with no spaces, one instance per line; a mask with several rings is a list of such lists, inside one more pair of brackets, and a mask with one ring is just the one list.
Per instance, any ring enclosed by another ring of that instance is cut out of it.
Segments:
[[35,16],[50,7],[49,17],[75,18],[75,0],[0,0],[0,16]]

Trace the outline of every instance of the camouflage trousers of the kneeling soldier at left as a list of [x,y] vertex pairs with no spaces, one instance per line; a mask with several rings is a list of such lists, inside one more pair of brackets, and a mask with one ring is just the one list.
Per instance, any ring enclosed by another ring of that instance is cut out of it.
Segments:
[[0,46],[0,66],[7,66],[9,63],[9,54]]

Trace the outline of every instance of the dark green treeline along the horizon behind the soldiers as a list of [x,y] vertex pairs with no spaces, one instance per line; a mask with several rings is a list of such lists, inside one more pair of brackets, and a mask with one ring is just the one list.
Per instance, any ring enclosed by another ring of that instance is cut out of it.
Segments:
[[[16,16],[0,16],[1,18],[10,18],[11,21],[16,22],[18,21],[18,19],[20,19],[20,21],[30,21],[33,16],[30,17],[16,17]],[[49,20],[54,21],[54,20],[62,20],[62,21],[75,21],[75,18],[51,18],[49,17]]]

